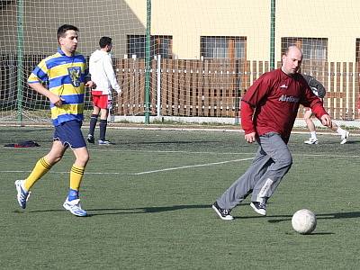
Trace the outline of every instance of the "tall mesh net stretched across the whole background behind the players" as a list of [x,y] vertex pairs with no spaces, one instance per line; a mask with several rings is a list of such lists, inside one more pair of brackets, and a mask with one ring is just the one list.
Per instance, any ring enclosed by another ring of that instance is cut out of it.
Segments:
[[[332,116],[356,120],[359,10],[356,1],[325,0],[0,1],[0,121],[49,122],[49,101],[26,81],[56,52],[65,23],[79,28],[77,51],[86,58],[102,36],[112,38],[122,89],[113,96],[115,121],[236,123],[241,96],[280,67],[289,44],[304,52],[302,72],[327,88]],[[87,89],[85,117],[91,109]]]

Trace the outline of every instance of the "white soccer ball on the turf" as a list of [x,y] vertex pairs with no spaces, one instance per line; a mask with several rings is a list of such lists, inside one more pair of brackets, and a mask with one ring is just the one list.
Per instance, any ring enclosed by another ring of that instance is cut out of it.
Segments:
[[310,234],[316,228],[316,216],[307,209],[296,211],[293,214],[292,225],[300,234]]

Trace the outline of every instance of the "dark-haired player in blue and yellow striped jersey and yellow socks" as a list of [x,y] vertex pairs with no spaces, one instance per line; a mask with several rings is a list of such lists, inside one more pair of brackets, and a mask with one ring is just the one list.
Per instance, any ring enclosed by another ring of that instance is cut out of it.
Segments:
[[84,118],[85,86],[91,87],[94,83],[88,80],[84,56],[76,53],[77,41],[76,26],[61,25],[58,28],[58,52],[42,59],[28,78],[28,84],[33,90],[49,98],[55,131],[49,153],[40,157],[25,180],[15,181],[17,201],[23,209],[29,199],[31,187],[58,163],[67,148],[71,148],[76,160],[70,170],[69,190],[63,207],[76,216],[87,215],[81,208],[79,199],[80,184],[89,160],[81,125]]

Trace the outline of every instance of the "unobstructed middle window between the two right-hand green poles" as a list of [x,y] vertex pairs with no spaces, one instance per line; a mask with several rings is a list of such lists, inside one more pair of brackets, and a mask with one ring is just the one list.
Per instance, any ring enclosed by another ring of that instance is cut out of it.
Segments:
[[201,37],[203,58],[246,58],[245,37]]

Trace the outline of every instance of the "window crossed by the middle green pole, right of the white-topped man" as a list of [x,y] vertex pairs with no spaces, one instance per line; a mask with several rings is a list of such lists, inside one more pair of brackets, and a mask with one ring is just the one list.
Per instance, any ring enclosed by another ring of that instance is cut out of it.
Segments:
[[[128,35],[128,57],[136,55],[137,58],[146,57],[146,35]],[[172,36],[151,36],[150,57],[161,55],[162,58],[172,58]]]

